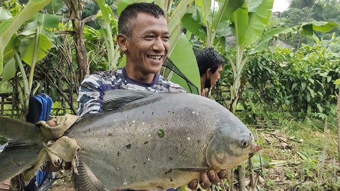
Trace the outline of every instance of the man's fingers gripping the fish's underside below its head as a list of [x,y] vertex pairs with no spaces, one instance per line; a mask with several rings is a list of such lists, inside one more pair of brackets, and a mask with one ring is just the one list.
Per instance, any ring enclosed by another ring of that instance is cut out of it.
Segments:
[[[220,182],[220,179],[226,178],[226,171],[220,171],[219,173],[216,172],[216,170],[209,170],[208,172],[202,172],[200,177],[200,185],[202,189],[208,189],[210,187],[210,183],[213,185],[217,185]],[[188,184],[188,188],[191,190],[196,190],[198,186],[197,179],[192,180]]]

